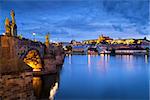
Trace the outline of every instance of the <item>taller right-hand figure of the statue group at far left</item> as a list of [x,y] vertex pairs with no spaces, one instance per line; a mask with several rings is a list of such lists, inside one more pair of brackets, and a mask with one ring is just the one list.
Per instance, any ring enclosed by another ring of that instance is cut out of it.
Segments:
[[11,36],[17,36],[17,25],[16,25],[16,21],[15,21],[15,12],[14,10],[11,10]]

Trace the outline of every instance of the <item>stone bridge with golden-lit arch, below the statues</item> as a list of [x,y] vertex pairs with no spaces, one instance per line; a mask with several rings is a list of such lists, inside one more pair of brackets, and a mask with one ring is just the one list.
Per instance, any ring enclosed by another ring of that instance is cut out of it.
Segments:
[[54,71],[63,64],[64,51],[61,46],[46,46],[29,39],[0,36],[0,73]]

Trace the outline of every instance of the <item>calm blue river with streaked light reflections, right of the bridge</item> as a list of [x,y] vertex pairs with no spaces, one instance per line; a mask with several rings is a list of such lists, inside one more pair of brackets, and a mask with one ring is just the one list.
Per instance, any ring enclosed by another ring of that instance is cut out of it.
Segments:
[[44,84],[41,95],[46,98],[48,92],[55,100],[149,100],[149,63],[148,56],[66,56],[57,81],[51,89],[50,82]]

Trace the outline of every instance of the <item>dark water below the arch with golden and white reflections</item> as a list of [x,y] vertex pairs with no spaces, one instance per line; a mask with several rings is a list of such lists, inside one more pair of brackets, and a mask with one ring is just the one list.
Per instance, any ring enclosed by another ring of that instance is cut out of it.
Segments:
[[33,88],[36,99],[53,100],[59,87],[59,73],[33,77]]

